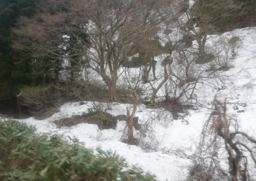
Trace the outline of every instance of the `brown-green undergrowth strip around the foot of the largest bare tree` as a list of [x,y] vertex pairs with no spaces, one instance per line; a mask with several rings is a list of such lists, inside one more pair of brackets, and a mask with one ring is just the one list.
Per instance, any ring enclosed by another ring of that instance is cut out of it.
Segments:
[[[137,92],[142,94],[142,90]],[[118,102],[131,103],[132,97],[127,87],[117,87],[117,94]],[[58,112],[63,103],[77,101],[111,102],[109,91],[104,86],[86,81],[55,82],[44,87],[23,87],[21,95],[17,98],[18,118],[34,116],[35,119],[43,120]]]

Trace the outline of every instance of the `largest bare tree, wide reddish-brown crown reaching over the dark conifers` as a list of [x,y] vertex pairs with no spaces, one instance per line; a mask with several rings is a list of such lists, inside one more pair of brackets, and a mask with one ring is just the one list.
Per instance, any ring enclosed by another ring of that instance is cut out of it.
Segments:
[[33,51],[34,56],[54,55],[91,68],[107,84],[110,99],[116,100],[118,69],[142,39],[156,33],[160,1],[48,0],[44,4],[55,11],[41,10],[31,19],[21,17],[19,29],[14,30],[19,40],[13,46]]

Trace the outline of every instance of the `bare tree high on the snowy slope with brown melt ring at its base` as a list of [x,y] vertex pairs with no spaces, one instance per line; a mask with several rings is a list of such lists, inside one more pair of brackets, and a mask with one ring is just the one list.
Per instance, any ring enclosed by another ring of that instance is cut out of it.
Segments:
[[[192,2],[193,5],[190,4]],[[214,2],[209,5],[196,0],[177,0],[174,5],[167,6],[165,10],[166,16],[173,20],[169,26],[180,32],[180,41],[184,43],[184,47],[192,46],[193,40],[196,40],[193,46],[194,48],[196,46],[194,52],[197,53],[196,63],[198,64],[214,59],[214,56],[205,51],[207,35],[212,33],[214,27],[207,23],[209,17],[203,13],[206,8],[213,6],[212,4]]]

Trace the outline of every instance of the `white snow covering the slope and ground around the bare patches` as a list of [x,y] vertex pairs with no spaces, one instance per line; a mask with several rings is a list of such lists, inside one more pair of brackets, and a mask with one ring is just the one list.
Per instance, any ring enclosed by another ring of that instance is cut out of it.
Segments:
[[[256,27],[243,28],[226,32],[215,37],[237,36],[241,40],[241,48],[232,62],[234,68],[225,72],[225,89],[216,90],[206,84],[198,84],[195,94],[203,105],[198,110],[189,110],[190,115],[184,119],[173,120],[172,115],[163,109],[147,109],[139,105],[135,116],[139,117],[139,123],[147,122],[151,132],[142,138],[144,143],[151,144],[155,149],[152,152],[144,152],[141,148],[122,143],[125,121],[118,121],[115,130],[99,130],[97,125],[82,123],[71,127],[57,129],[52,123],[56,119],[81,115],[87,113],[92,107],[91,102],[66,103],[61,106],[60,112],[45,120],[35,120],[33,117],[20,119],[20,121],[35,125],[38,132],[58,132],[60,134],[75,136],[85,143],[88,148],[101,147],[103,150],[116,151],[126,158],[128,164],[136,164],[145,171],[150,171],[160,181],[176,181],[185,179],[191,160],[189,155],[196,150],[196,144],[202,130],[203,122],[211,112],[211,101],[217,95],[219,99],[237,103],[238,110],[229,109],[229,113],[235,114],[240,120],[240,130],[256,138]],[[241,104],[246,103],[243,107]],[[239,104],[241,106],[239,106]],[[126,114],[128,104],[112,103],[108,110],[113,116]],[[105,104],[105,108],[107,105]],[[134,135],[141,136],[134,130]]]

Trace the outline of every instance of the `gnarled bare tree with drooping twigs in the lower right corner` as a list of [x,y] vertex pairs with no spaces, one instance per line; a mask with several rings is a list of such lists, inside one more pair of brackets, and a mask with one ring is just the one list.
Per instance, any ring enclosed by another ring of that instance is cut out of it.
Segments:
[[[215,109],[203,127],[200,153],[197,152],[194,157],[194,160],[197,160],[195,165],[200,166],[202,170],[197,170],[193,176],[190,175],[190,180],[253,180],[250,174],[255,173],[255,138],[239,131],[237,120],[227,115],[226,100],[222,103],[215,98],[213,104]],[[225,155],[220,154],[223,149]],[[221,159],[225,159],[226,156],[229,174],[220,166]],[[209,160],[212,161],[212,165],[207,164]],[[212,170],[211,174],[203,174],[209,169]],[[200,175],[204,175],[204,178],[199,178]]]

